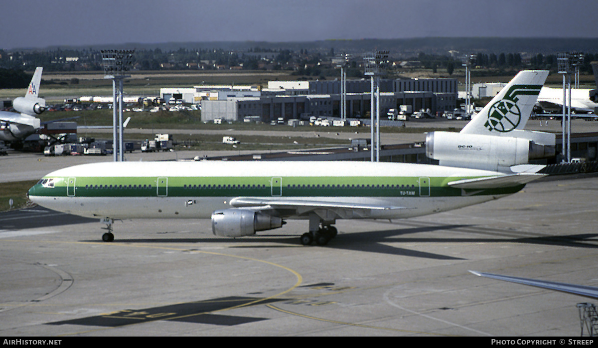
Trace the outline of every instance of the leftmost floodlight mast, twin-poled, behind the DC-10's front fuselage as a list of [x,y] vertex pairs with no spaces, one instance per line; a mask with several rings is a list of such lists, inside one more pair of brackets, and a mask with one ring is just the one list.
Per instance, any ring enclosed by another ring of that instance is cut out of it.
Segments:
[[[123,161],[123,80],[133,64],[135,50],[102,50],[104,78],[112,79],[112,157]],[[117,90],[118,81],[118,90]],[[118,109],[118,114],[117,114]]]

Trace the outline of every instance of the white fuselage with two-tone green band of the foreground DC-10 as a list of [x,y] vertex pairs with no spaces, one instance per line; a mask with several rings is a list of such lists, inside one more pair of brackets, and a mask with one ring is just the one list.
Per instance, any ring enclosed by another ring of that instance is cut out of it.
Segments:
[[[515,192],[478,194],[482,190],[471,192],[446,185],[463,178],[496,175],[502,174],[428,164],[360,161],[112,162],[57,170],[44,177],[53,180],[52,188],[38,184],[29,196],[33,202],[54,210],[114,219],[210,218],[215,210],[234,207],[231,201],[239,197],[273,203],[294,200],[400,207],[327,209],[342,218],[407,218]],[[295,207],[281,215],[305,218],[303,209]]]

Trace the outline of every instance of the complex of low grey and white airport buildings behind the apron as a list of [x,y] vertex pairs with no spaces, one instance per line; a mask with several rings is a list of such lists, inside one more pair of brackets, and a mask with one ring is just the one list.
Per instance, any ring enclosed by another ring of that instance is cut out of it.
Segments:
[[[370,80],[347,80],[347,118],[369,118]],[[259,116],[269,122],[316,117],[340,117],[340,81],[270,81],[267,88],[252,86],[194,86],[161,88],[160,97],[200,103],[202,121],[226,121]],[[380,112],[409,105],[413,111],[425,109],[432,115],[453,111],[457,106],[457,80],[454,78],[381,80]]]

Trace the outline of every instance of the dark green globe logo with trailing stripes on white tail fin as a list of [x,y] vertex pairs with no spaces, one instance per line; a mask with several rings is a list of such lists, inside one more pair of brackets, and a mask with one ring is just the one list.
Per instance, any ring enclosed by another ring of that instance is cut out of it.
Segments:
[[535,95],[540,93],[542,86],[537,85],[514,85],[509,88],[505,96],[490,106],[488,111],[488,120],[484,126],[490,132],[511,132],[519,126],[521,122],[521,110],[517,106],[520,94]]

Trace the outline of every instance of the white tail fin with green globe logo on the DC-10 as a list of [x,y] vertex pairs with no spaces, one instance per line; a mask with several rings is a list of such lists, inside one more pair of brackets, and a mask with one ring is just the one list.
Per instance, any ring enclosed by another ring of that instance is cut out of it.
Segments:
[[547,77],[545,70],[519,72],[460,133],[500,136],[524,129]]

